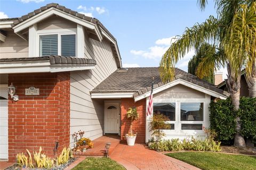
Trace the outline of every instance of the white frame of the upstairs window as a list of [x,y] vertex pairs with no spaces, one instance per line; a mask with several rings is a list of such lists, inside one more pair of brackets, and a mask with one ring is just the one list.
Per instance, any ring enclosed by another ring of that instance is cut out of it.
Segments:
[[75,35],[76,36],[76,57],[77,57],[77,29],[54,29],[54,30],[38,30],[36,40],[36,53],[40,56],[40,36],[58,35],[58,55],[61,55],[61,36]]

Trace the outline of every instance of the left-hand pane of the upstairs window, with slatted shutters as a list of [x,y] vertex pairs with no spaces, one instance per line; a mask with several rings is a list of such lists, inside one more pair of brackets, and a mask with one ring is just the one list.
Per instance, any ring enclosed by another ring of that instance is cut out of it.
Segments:
[[40,36],[40,56],[58,55],[58,35]]

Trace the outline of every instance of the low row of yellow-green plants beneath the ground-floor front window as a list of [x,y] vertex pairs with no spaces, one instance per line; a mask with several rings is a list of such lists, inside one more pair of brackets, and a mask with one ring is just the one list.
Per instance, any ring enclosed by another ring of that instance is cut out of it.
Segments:
[[213,139],[199,140],[192,137],[191,141],[184,139],[182,142],[179,139],[162,140],[158,142],[158,146],[157,141],[155,141],[151,143],[149,148],[158,151],[221,151],[220,143]]

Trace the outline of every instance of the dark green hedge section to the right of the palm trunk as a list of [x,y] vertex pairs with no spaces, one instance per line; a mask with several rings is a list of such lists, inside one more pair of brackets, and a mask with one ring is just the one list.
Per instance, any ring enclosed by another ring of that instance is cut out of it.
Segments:
[[256,98],[242,97],[238,114],[243,137],[256,143]]

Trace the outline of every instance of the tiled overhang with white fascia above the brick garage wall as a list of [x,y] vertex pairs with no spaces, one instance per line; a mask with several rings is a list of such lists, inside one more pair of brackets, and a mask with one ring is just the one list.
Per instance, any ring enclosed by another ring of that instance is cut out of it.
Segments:
[[0,73],[65,72],[94,69],[96,62],[85,58],[45,56],[28,58],[2,58]]

